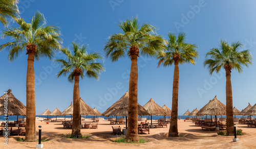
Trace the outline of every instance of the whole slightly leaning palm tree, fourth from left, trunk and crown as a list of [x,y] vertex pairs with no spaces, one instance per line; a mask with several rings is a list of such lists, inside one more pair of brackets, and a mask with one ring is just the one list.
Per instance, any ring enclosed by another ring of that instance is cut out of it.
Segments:
[[195,65],[195,58],[198,58],[198,48],[195,44],[185,43],[185,33],[180,33],[177,37],[175,33],[168,33],[168,43],[166,51],[159,53],[158,66],[171,66],[174,63],[173,81],[173,103],[170,120],[169,137],[178,137],[178,93],[179,93],[179,64],[192,63]]

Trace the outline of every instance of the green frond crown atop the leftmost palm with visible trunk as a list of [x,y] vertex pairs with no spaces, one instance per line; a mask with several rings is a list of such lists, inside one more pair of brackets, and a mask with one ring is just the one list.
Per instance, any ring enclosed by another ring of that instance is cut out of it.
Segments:
[[42,13],[36,12],[30,23],[24,19],[16,19],[19,27],[11,27],[3,31],[3,37],[10,36],[13,42],[0,45],[0,51],[7,48],[10,53],[8,59],[13,61],[27,48],[27,54],[33,53],[35,59],[46,56],[50,59],[54,56],[54,51],[60,47],[60,32],[58,27],[46,25],[45,17]]

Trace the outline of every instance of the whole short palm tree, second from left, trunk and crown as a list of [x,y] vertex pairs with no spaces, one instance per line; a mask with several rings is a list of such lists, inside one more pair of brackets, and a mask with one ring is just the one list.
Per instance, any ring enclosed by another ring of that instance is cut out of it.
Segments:
[[86,46],[79,46],[77,43],[73,43],[74,55],[68,50],[68,48],[62,48],[61,51],[68,57],[68,61],[63,59],[55,60],[55,62],[61,64],[61,70],[57,74],[57,78],[60,76],[66,76],[69,74],[68,81],[73,83],[73,122],[72,122],[72,136],[77,137],[81,135],[80,132],[80,93],[79,93],[79,77],[81,79],[88,77],[99,79],[99,74],[104,71],[101,63],[95,63],[97,59],[103,59],[98,53],[87,54]]

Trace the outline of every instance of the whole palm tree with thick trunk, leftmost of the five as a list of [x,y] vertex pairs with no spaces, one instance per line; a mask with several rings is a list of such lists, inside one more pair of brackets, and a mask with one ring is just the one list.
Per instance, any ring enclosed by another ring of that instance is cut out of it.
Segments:
[[46,26],[44,15],[36,12],[30,23],[26,23],[22,18],[16,19],[18,27],[11,27],[3,31],[3,36],[10,36],[13,42],[0,45],[0,51],[6,48],[9,52],[8,59],[13,61],[18,55],[27,49],[27,127],[26,140],[36,141],[35,134],[35,76],[34,59],[41,57],[52,59],[54,51],[60,47],[60,32],[55,26]]

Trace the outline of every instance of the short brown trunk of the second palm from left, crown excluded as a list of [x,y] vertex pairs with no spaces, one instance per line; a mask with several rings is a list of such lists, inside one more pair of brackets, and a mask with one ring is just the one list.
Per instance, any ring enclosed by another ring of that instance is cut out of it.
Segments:
[[80,136],[80,93],[79,93],[79,76],[75,76],[74,92],[73,92],[73,121],[72,121],[72,136]]

